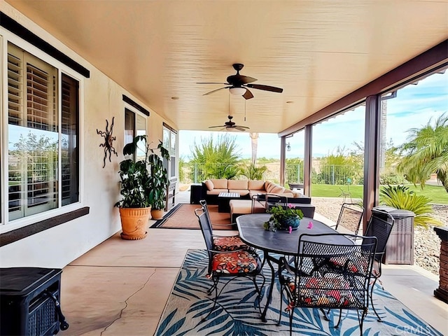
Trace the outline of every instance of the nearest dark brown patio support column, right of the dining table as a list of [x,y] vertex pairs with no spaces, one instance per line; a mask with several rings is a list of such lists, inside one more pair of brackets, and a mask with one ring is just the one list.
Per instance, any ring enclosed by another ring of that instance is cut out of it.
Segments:
[[367,228],[372,208],[378,204],[379,199],[380,104],[379,95],[369,96],[365,100],[363,231]]

